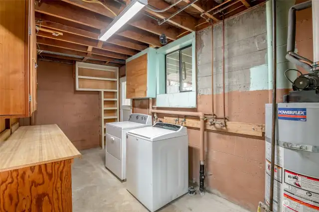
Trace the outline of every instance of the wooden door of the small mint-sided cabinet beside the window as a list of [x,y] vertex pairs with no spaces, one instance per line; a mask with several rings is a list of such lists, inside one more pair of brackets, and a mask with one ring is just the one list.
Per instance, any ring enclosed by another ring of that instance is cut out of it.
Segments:
[[144,54],[126,64],[126,98],[147,97],[148,54]]

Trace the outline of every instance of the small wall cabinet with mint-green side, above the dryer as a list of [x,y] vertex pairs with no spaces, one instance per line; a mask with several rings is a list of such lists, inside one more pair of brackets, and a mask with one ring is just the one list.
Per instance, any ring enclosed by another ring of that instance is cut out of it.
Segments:
[[156,98],[156,61],[154,48],[126,60],[126,98]]

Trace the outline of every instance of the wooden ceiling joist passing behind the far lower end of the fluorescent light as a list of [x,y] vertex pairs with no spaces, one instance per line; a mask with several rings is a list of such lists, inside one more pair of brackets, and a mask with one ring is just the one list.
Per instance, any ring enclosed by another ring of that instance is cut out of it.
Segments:
[[[92,38],[95,40],[98,40],[99,37],[99,33],[96,32],[92,32],[92,31],[88,31],[91,29],[79,29],[77,28],[77,26],[71,26],[70,21],[61,19],[61,18],[57,18],[57,17],[53,17],[50,15],[46,15],[46,14],[40,14],[40,13],[35,13],[36,15],[36,20],[42,20],[41,22],[41,26],[43,27],[47,27],[50,29],[54,29],[54,30],[58,30],[58,31],[62,31],[62,32],[68,32],[71,34],[75,34],[75,35],[80,35],[83,37],[88,37],[88,38]],[[136,41],[128,41],[123,40],[123,38],[121,36],[118,35],[113,35],[109,40],[109,43],[112,44],[116,44],[119,46],[123,46],[123,47],[127,47],[127,48],[131,48],[131,49],[135,49],[135,50],[139,50],[139,51],[143,51],[146,48],[148,48],[146,45],[140,45],[135,43]]]

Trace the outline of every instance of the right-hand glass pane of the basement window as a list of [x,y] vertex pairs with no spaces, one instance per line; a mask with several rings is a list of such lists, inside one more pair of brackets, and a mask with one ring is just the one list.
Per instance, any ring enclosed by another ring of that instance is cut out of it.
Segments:
[[192,47],[181,50],[181,91],[192,90]]

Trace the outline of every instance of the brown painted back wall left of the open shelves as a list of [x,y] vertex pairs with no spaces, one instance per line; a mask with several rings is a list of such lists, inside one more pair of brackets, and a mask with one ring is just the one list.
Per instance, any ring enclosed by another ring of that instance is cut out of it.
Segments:
[[71,64],[38,65],[34,124],[57,124],[79,150],[99,146],[99,93],[74,91]]

